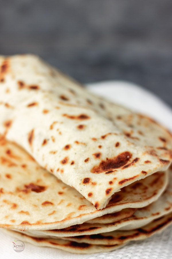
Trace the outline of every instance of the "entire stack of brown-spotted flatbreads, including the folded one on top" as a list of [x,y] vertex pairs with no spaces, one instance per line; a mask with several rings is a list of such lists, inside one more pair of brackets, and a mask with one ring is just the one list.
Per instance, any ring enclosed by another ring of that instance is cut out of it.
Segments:
[[154,120],[33,55],[0,56],[0,114],[0,227],[9,235],[89,254],[172,224],[172,135]]

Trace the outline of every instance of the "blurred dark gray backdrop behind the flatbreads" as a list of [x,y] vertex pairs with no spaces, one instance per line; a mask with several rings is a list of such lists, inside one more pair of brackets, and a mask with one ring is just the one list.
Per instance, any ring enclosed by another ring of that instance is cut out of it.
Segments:
[[0,0],[0,53],[34,53],[82,83],[138,83],[172,106],[172,1]]

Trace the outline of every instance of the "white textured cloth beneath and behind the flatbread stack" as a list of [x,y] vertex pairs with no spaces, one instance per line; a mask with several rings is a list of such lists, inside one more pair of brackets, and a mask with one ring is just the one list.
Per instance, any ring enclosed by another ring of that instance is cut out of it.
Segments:
[[[132,110],[147,114],[172,131],[171,108],[147,90],[123,81],[93,83],[88,85],[88,89]],[[119,250],[90,255],[71,254],[50,247],[36,247],[26,242],[24,251],[15,252],[12,241],[12,237],[0,231],[1,259],[172,259],[172,226],[161,234],[143,241],[130,242]]]

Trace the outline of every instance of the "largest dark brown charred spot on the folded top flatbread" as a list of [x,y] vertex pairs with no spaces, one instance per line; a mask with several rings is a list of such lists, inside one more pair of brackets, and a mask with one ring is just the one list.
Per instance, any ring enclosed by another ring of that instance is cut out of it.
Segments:
[[113,169],[124,166],[132,157],[132,154],[128,151],[119,154],[117,157],[106,158],[102,160],[99,165],[95,165],[91,169],[91,173],[99,174],[103,172],[110,172]]

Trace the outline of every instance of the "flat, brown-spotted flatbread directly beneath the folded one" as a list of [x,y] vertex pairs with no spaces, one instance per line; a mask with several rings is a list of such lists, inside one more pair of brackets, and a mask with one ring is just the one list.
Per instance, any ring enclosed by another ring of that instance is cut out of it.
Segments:
[[65,228],[124,208],[143,207],[158,199],[168,182],[166,172],[152,174],[122,188],[105,209],[97,210],[4,138],[0,138],[0,177],[0,227],[19,230]]

